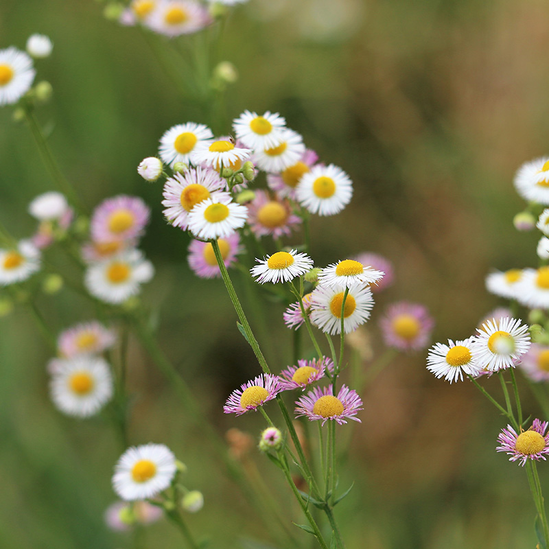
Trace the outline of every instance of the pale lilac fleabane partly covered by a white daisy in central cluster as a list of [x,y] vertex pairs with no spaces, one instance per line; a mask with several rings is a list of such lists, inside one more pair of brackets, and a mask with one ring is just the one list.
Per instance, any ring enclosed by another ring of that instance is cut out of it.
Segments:
[[185,231],[189,224],[189,212],[197,204],[218,196],[230,200],[229,194],[221,191],[224,185],[224,180],[215,170],[200,166],[183,174],[174,174],[167,178],[164,185],[162,205],[165,206],[165,218],[173,226]]

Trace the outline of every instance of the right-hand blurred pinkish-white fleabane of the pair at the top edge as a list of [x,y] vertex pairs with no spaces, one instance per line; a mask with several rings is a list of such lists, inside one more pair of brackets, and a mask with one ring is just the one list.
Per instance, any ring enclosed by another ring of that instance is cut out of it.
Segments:
[[165,36],[192,34],[204,29],[213,19],[202,4],[192,0],[161,0],[143,23]]

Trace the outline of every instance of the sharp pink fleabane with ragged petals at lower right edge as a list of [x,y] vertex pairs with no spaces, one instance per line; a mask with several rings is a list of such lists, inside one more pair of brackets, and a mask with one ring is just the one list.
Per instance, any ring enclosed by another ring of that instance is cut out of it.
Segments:
[[507,428],[498,434],[500,446],[496,447],[495,451],[506,452],[511,456],[509,461],[518,461],[523,467],[528,459],[546,460],[546,455],[549,454],[549,434],[546,434],[548,425],[547,421],[535,419],[527,431],[519,434],[511,425],[507,425]]

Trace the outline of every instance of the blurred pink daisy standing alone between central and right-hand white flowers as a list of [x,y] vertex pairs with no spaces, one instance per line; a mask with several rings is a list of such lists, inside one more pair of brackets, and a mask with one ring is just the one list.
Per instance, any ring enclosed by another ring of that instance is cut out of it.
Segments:
[[419,351],[429,344],[434,320],[423,305],[399,301],[388,307],[379,325],[387,347]]

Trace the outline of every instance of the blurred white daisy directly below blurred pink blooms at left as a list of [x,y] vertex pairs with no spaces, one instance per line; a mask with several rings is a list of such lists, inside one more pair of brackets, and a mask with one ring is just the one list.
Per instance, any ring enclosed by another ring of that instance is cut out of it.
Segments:
[[139,250],[126,250],[86,270],[86,288],[91,295],[106,303],[123,303],[139,294],[141,284],[150,281],[154,267]]

